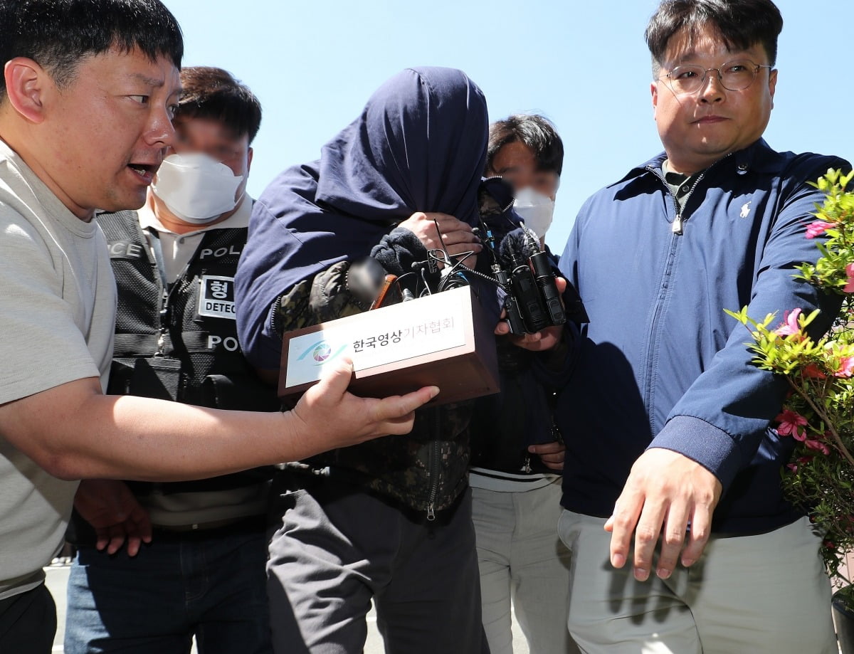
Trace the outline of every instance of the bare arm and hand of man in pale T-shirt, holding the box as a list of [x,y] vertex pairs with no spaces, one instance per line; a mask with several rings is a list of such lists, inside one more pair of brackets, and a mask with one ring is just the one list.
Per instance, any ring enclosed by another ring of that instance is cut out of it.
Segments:
[[201,479],[407,434],[438,393],[358,398],[346,392],[352,371],[338,362],[285,413],[105,396],[97,379],[79,379],[0,406],[0,436],[61,478]]

